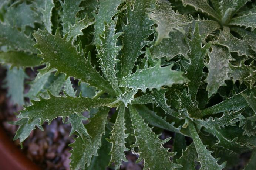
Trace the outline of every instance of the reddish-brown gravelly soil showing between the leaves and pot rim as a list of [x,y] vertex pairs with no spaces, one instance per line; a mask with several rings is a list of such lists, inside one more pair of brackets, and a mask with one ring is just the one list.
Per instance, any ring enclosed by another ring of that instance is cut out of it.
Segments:
[[[30,78],[36,75],[33,70],[26,70]],[[6,129],[7,135],[13,139],[17,126],[11,125],[9,121],[16,121],[14,113],[23,109],[17,105],[13,105],[9,98],[6,97],[7,89],[3,89],[3,80],[6,76],[6,70],[0,67],[0,124]],[[25,86],[25,90],[28,87]],[[23,142],[22,152],[43,170],[70,170],[69,167],[69,151],[71,148],[68,144],[73,143],[70,124],[63,124],[61,118],[54,119],[50,125],[43,124],[44,131],[36,128],[31,132],[30,136]],[[173,136],[171,132],[164,131],[162,138]],[[14,141],[20,148],[19,140]],[[172,148],[172,140],[165,144],[165,147]],[[129,162],[124,162],[121,170],[142,170],[142,162],[136,164],[138,159],[130,151],[127,153]],[[241,156],[241,163],[230,170],[241,170],[248,158],[247,155]],[[108,169],[111,170],[111,169]]]

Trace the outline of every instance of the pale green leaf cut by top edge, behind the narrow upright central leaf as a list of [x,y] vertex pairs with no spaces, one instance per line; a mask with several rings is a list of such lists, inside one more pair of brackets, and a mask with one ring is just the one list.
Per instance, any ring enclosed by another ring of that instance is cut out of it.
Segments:
[[94,39],[95,44],[100,45],[100,35],[104,32],[104,24],[111,24],[113,22],[112,17],[119,13],[118,6],[123,3],[124,0],[112,0],[109,1],[100,0],[100,9],[98,14],[92,13],[95,18],[94,23]]

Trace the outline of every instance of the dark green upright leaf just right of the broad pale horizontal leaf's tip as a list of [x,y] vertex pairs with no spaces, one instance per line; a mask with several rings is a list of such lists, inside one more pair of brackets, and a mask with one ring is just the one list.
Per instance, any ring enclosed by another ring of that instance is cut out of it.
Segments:
[[192,39],[186,39],[190,49],[190,52],[188,53],[189,62],[183,61],[182,65],[186,70],[184,76],[190,80],[186,85],[188,86],[189,94],[191,94],[191,98],[194,101],[203,76],[203,59],[210,48],[210,44],[208,43],[202,47],[205,35],[200,35],[199,25],[197,23],[191,37]]

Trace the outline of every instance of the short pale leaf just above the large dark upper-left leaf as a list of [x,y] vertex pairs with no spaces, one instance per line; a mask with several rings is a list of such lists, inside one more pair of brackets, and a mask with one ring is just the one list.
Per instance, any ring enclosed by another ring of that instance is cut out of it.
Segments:
[[72,39],[71,42],[74,44],[74,41],[77,40],[77,37],[79,35],[84,35],[82,30],[85,28],[89,27],[90,25],[94,24],[94,21],[92,19],[88,18],[88,15],[85,15],[84,19],[82,20],[77,20],[74,25],[71,25],[69,27],[68,35],[67,35],[67,40]]

